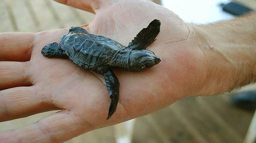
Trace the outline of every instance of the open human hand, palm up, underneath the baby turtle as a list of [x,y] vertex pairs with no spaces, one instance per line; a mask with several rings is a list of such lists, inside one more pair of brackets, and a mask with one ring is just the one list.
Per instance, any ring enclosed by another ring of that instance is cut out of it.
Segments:
[[[57,0],[62,2],[62,0]],[[92,11],[75,2],[66,4]],[[127,46],[154,20],[160,34],[147,49],[161,58],[143,72],[114,70],[120,82],[117,111],[106,120],[110,98],[102,75],[79,68],[70,60],[46,58],[42,48],[59,42],[68,29],[0,34],[0,121],[60,109],[27,127],[0,133],[0,142],[13,139],[65,141],[96,128],[152,113],[203,88],[206,62],[191,25],[171,11],[144,0],[106,0],[94,5],[96,16],[84,28]],[[5,38],[3,38],[5,37]],[[4,62],[8,61],[8,62]],[[17,61],[17,62],[13,62]],[[10,72],[11,71],[11,72]],[[40,136],[40,137],[38,137]]]

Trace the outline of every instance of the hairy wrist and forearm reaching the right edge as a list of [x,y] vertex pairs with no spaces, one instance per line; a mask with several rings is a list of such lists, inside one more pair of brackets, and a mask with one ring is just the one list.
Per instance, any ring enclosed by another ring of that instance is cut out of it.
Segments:
[[224,93],[256,81],[256,13],[195,29],[208,64],[203,94]]

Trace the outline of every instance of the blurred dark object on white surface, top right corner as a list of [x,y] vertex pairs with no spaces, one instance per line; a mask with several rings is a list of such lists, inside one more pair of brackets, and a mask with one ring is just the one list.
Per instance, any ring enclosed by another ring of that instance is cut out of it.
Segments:
[[244,6],[242,4],[239,4],[237,2],[230,2],[228,4],[221,4],[222,9],[225,12],[228,12],[230,14],[233,14],[235,16],[243,15],[248,12],[251,12],[252,9],[248,8],[247,6]]

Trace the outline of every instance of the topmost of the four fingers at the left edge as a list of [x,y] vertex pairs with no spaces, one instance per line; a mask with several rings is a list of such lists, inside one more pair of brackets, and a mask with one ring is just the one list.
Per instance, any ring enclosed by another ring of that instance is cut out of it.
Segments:
[[0,61],[29,61],[34,33],[0,33]]

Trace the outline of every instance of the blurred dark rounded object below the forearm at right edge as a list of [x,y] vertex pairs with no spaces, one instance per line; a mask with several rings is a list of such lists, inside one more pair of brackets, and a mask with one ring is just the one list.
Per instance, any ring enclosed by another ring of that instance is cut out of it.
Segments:
[[233,105],[247,110],[256,109],[256,91],[237,93],[231,98]]

